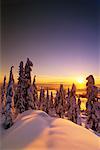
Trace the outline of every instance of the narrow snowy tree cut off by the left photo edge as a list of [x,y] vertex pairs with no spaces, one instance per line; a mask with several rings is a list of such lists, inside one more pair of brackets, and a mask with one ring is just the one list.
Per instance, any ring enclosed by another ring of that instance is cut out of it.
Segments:
[[1,113],[5,116],[6,107],[6,76],[4,77],[3,85],[1,87]]

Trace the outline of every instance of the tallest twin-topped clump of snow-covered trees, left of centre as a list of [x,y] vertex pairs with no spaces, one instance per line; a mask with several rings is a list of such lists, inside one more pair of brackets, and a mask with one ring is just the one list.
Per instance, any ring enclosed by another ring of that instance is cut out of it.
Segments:
[[33,63],[27,58],[25,68],[23,61],[19,65],[19,78],[15,90],[14,104],[17,113],[34,109],[33,87],[31,85],[31,71]]

